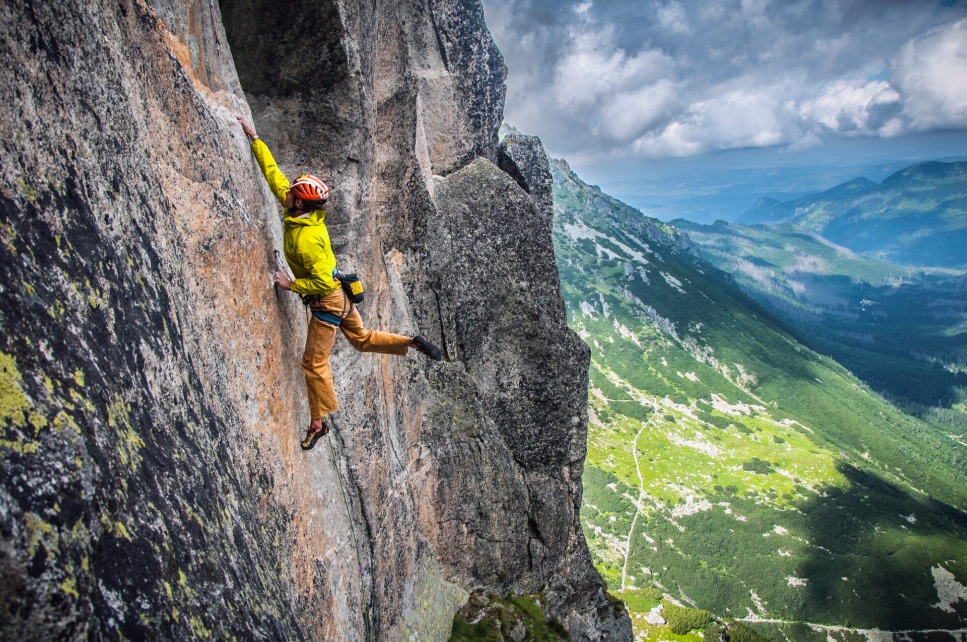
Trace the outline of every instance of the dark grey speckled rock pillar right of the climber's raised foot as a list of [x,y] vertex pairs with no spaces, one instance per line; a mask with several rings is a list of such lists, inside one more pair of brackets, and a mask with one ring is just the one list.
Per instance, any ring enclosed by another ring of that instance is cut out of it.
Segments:
[[[440,283],[448,352],[469,375],[492,442],[438,472],[445,485],[430,504],[457,526],[439,532],[439,549],[464,586],[544,591],[554,611],[568,612],[572,599],[600,595],[601,582],[578,523],[590,353],[567,327],[545,243],[551,212],[488,160],[436,183],[429,274]],[[476,506],[446,501],[490,468],[515,473],[494,489],[498,502],[486,494]],[[492,512],[499,504],[503,511]]]

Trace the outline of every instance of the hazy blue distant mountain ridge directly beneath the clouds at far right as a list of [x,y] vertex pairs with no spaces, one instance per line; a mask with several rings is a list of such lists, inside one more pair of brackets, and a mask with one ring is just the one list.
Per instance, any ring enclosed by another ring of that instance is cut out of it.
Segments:
[[967,161],[918,162],[875,183],[863,177],[803,198],[760,198],[736,221],[792,222],[836,244],[901,265],[967,265]]

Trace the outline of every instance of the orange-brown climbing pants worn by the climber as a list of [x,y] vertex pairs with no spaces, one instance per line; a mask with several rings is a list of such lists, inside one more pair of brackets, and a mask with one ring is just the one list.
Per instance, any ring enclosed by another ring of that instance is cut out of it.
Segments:
[[[311,308],[342,317],[338,329],[360,352],[406,354],[406,344],[410,342],[410,337],[366,330],[359,310],[349,304],[341,288],[322,297]],[[336,339],[336,329],[337,326],[320,321],[314,316],[309,318],[303,371],[306,372],[308,409],[313,420],[322,419],[339,407],[336,388],[333,386],[333,370],[329,366],[329,353]]]

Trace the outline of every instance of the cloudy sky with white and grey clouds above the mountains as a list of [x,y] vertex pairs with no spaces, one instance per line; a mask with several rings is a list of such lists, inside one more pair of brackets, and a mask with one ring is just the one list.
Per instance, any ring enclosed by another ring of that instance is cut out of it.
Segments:
[[956,3],[484,0],[507,118],[578,162],[967,128]]

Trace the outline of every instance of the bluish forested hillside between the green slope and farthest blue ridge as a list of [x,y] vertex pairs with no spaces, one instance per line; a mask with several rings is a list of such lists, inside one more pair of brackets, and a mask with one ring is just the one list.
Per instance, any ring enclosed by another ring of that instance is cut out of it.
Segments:
[[967,278],[867,258],[792,223],[673,224],[817,352],[909,412],[967,430],[967,413],[950,412],[967,388]]

